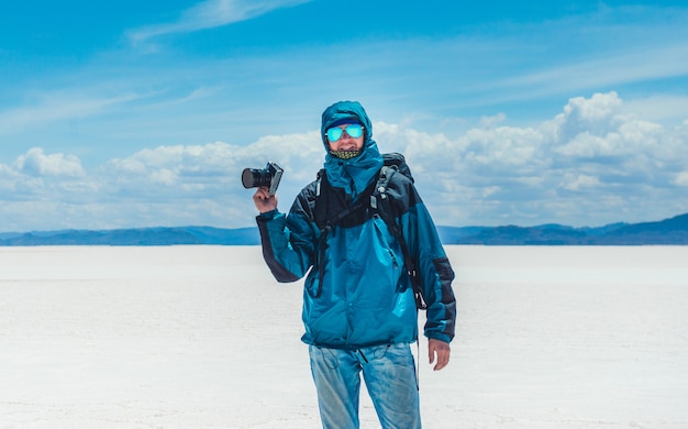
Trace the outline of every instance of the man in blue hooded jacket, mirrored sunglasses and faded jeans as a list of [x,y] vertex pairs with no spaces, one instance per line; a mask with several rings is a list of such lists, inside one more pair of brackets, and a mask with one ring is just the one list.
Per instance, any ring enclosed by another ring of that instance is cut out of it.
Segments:
[[[428,305],[424,333],[435,371],[447,365],[454,337],[454,272],[410,178],[397,173],[387,184],[401,237],[370,207],[384,158],[364,108],[355,101],[329,107],[321,135],[324,173],[301,190],[288,216],[277,210],[267,188],[254,195],[265,261],[279,282],[308,275],[302,340],[309,344],[323,427],[358,428],[363,372],[384,428],[420,428],[409,345],[418,340],[418,309],[404,253],[414,262]],[[321,228],[318,213],[328,220],[346,216]]]

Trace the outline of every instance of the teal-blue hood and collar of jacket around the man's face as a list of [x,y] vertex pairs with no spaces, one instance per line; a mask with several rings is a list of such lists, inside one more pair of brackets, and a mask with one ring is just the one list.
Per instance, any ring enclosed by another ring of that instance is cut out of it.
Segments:
[[[364,143],[360,155],[351,160],[340,160],[330,154],[325,131],[333,123],[353,118],[364,127]],[[373,123],[358,101],[339,101],[322,113],[320,135],[325,148],[325,173],[332,186],[343,188],[354,199],[377,177],[382,167],[382,155],[373,140]]]

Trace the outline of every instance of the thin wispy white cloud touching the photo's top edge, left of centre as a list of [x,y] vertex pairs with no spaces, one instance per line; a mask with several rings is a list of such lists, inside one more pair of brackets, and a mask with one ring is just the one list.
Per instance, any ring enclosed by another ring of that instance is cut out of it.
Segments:
[[131,30],[127,35],[136,44],[165,34],[228,25],[309,1],[312,0],[206,0],[185,10],[175,22]]

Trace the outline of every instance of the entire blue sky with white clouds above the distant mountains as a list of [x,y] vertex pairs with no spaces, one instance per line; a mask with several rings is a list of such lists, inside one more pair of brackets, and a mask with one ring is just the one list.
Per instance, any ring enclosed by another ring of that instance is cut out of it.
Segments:
[[337,100],[439,224],[688,212],[684,2],[462,3],[5,4],[0,231],[253,226],[241,170],[285,167],[288,210]]

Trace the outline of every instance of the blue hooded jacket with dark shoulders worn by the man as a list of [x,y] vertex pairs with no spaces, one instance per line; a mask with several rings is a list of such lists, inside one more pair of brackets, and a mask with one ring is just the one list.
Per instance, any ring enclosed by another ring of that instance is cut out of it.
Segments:
[[[356,157],[341,160],[329,153],[324,135],[333,123],[346,118],[364,125],[364,148]],[[329,186],[319,189],[320,180],[308,185],[288,216],[273,210],[257,217],[265,261],[278,282],[307,276],[302,312],[306,343],[355,350],[413,342],[418,338],[413,289],[401,245],[385,221],[367,210],[367,205],[326,234],[314,219],[319,191],[326,193],[331,213],[358,198],[369,198],[365,190],[377,180],[384,163],[373,140],[370,120],[358,102],[341,101],[323,112],[321,135],[328,151],[324,172]],[[391,177],[387,194],[428,304],[424,333],[450,342],[456,319],[451,286],[454,272],[413,183],[402,174]]]

